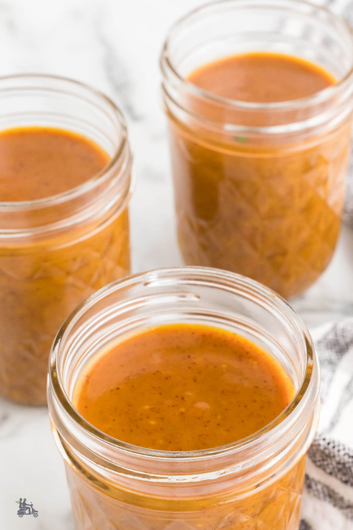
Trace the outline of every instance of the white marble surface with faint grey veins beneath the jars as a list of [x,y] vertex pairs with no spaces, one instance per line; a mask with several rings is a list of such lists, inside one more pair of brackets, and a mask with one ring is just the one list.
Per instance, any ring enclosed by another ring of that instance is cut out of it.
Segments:
[[[195,0],[4,0],[0,75],[74,77],[110,95],[129,121],[137,187],[131,201],[133,270],[181,264],[176,245],[158,57],[166,29]],[[353,19],[353,7],[352,19]],[[313,329],[353,316],[353,231],[343,227],[324,275],[293,305]],[[37,519],[16,517],[26,496]],[[46,409],[0,401],[0,528],[73,530],[61,457]]]

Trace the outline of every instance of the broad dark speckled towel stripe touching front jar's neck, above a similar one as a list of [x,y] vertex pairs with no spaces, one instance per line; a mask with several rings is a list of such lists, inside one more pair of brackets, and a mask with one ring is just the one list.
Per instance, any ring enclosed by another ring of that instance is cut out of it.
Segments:
[[327,438],[315,438],[308,456],[322,471],[353,488],[353,452],[345,445]]

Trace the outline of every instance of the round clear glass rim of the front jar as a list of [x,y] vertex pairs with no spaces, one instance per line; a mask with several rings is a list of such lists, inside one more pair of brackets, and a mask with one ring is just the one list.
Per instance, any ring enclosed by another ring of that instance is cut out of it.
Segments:
[[[178,276],[179,275],[179,276]],[[89,308],[92,308],[94,304],[103,299],[108,294],[119,289],[124,289],[129,286],[136,285],[138,283],[149,282],[152,279],[164,279],[170,277],[179,277],[180,275],[189,275],[197,279],[205,279],[213,276],[215,281],[232,281],[234,287],[241,287],[246,291],[248,295],[255,294],[262,302],[268,302],[275,305],[276,310],[281,316],[285,317],[286,323],[291,325],[292,329],[301,338],[301,346],[305,355],[305,365],[303,369],[303,375],[300,383],[298,384],[297,391],[293,396],[291,402],[287,407],[268,425],[262,429],[254,432],[246,438],[242,438],[235,442],[219,447],[212,447],[208,449],[200,449],[196,451],[160,451],[159,449],[150,449],[146,447],[139,447],[122,440],[111,437],[105,434],[101,430],[94,427],[89,423],[83,416],[76,410],[73,403],[71,402],[62,382],[62,377],[59,370],[58,357],[61,352],[61,341],[64,338],[66,330],[83,315]],[[49,356],[49,376],[48,376],[48,392],[51,391],[56,398],[61,411],[69,417],[70,421],[75,424],[76,428],[79,428],[85,435],[88,435],[91,439],[99,444],[105,445],[107,448],[115,449],[116,451],[122,451],[130,455],[137,455],[141,457],[154,457],[158,460],[168,461],[197,461],[204,460],[205,458],[213,458],[215,456],[222,456],[232,454],[234,452],[243,452],[249,447],[260,443],[262,439],[269,434],[275,434],[280,428],[283,428],[285,423],[291,421],[293,413],[297,409],[305,407],[305,401],[308,399],[308,395],[313,394],[312,408],[314,407],[318,392],[319,385],[314,387],[315,378],[319,378],[319,367],[314,345],[310,337],[309,331],[305,324],[302,322],[297,313],[288,305],[284,298],[277,295],[273,290],[265,287],[255,280],[246,278],[236,273],[206,268],[206,267],[176,267],[167,269],[157,269],[144,273],[135,274],[122,280],[117,280],[110,285],[99,289],[92,296],[88,297],[86,301],[80,304],[76,310],[74,310],[62,324]],[[304,399],[305,398],[305,399]]]

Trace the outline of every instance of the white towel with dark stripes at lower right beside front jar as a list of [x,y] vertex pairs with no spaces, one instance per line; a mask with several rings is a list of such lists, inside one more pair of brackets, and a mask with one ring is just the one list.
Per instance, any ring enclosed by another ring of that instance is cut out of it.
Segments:
[[353,530],[353,319],[324,326],[313,339],[321,413],[306,461],[300,530]]

